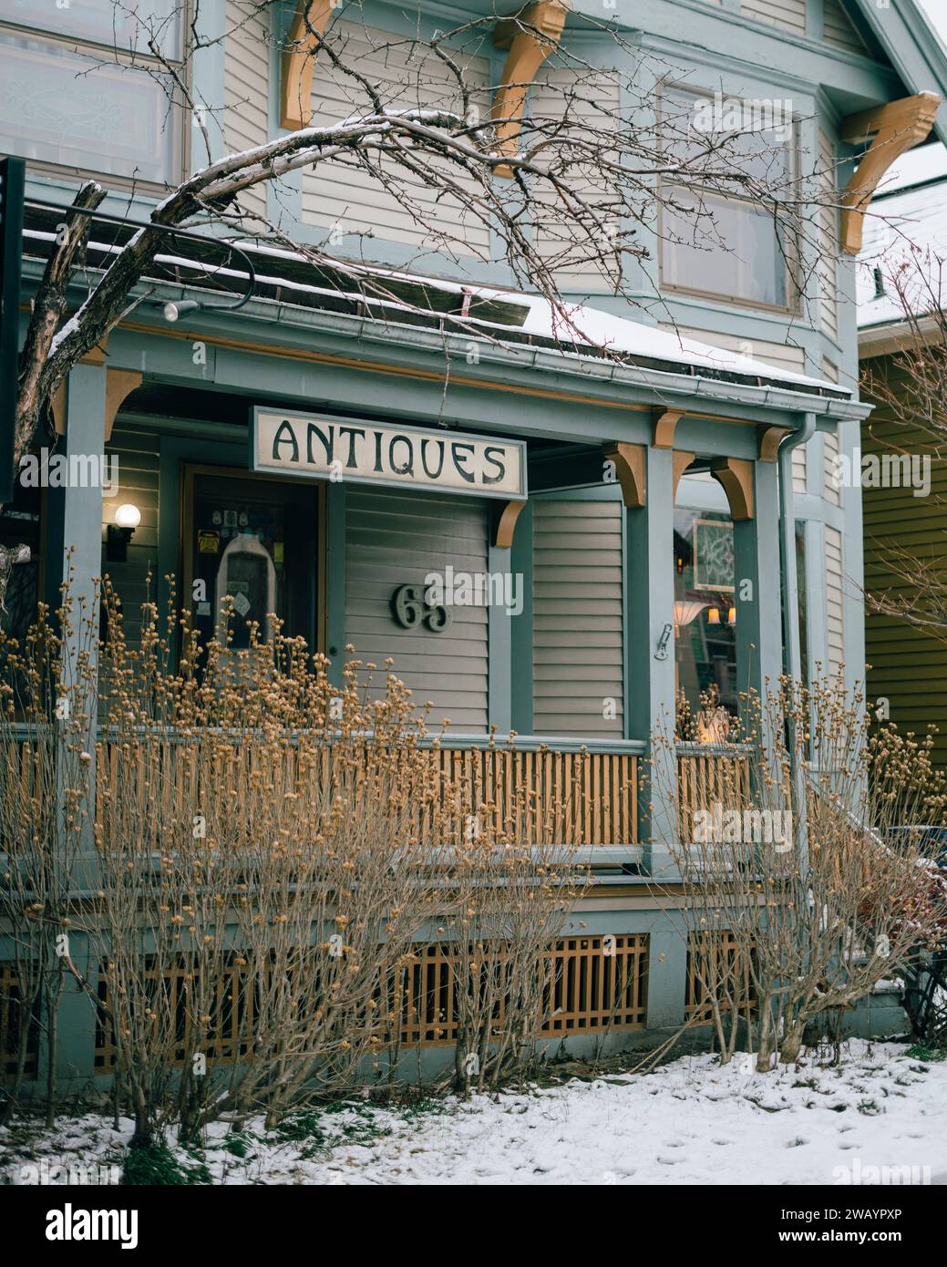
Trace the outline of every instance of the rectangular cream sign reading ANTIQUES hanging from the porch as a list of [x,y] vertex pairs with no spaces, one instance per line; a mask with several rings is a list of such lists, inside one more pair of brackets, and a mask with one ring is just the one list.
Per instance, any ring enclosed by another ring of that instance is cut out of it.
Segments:
[[358,484],[440,488],[473,497],[526,498],[526,446],[458,431],[256,407],[250,427],[255,471]]

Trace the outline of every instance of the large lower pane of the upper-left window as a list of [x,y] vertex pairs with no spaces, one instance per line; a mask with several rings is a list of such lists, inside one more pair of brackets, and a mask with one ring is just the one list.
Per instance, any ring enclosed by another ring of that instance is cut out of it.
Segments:
[[0,32],[0,151],[176,184],[179,118],[157,77]]

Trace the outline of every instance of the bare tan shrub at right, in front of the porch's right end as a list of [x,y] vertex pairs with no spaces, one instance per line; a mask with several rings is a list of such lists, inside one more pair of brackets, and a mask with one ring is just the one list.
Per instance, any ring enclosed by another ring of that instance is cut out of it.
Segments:
[[[723,1058],[742,1017],[766,1069],[776,1052],[796,1060],[808,1026],[937,944],[944,891],[901,827],[942,822],[947,801],[931,737],[876,725],[837,680],[783,679],[743,702],[731,734],[725,753],[707,750],[712,777],[682,799],[672,851]],[[721,934],[729,953],[707,953]]]

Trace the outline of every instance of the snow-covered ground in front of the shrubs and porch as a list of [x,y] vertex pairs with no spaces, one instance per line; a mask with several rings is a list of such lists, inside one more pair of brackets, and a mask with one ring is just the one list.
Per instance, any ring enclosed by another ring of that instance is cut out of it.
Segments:
[[[468,1104],[352,1102],[307,1115],[299,1138],[257,1124],[224,1147],[214,1128],[199,1157],[175,1152],[217,1183],[947,1183],[947,1062],[853,1043],[835,1068],[751,1066],[692,1055]],[[129,1131],[95,1116],[0,1130],[0,1182],[65,1182],[56,1164],[118,1175]]]

